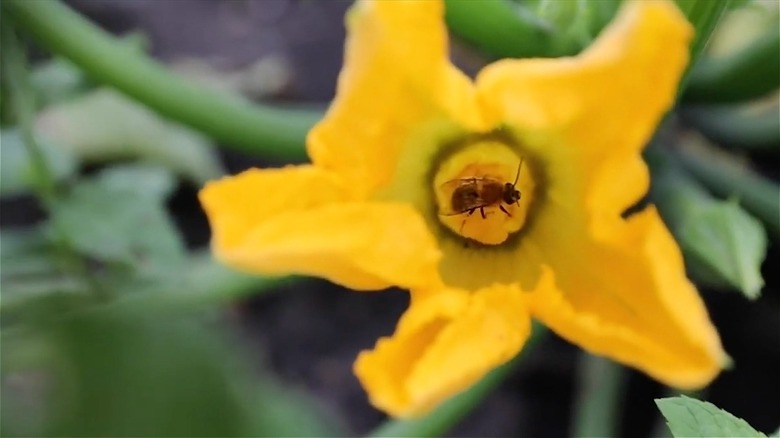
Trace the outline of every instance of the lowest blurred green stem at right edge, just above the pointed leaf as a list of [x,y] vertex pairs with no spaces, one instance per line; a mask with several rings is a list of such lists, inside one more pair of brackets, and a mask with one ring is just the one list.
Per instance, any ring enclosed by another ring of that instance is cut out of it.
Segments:
[[722,197],[736,197],[775,239],[780,238],[780,186],[738,164],[727,153],[703,145],[678,148],[677,155],[710,190]]

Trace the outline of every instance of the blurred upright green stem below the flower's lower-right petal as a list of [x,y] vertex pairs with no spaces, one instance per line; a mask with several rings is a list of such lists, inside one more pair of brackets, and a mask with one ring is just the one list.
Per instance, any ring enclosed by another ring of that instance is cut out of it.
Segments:
[[625,377],[619,364],[584,351],[580,354],[573,436],[606,438],[616,435]]

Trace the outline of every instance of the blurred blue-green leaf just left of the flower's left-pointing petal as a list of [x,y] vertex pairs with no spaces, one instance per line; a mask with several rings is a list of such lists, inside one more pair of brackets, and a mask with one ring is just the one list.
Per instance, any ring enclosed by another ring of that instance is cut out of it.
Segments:
[[51,212],[53,234],[99,262],[149,273],[179,268],[184,246],[160,200],[118,184],[116,175],[107,171],[58,199]]

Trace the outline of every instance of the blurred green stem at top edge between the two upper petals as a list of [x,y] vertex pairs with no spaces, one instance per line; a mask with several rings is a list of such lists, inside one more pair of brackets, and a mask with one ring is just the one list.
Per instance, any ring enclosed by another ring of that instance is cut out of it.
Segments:
[[496,58],[561,56],[576,53],[551,24],[508,0],[447,0],[447,25],[460,37]]

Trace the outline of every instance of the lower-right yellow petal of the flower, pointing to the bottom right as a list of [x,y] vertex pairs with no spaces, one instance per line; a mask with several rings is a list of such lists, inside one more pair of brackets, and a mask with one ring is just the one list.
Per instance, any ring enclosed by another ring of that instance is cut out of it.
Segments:
[[678,388],[706,385],[727,362],[655,208],[608,241],[581,238],[547,251],[559,289],[540,288],[529,301],[559,335]]

